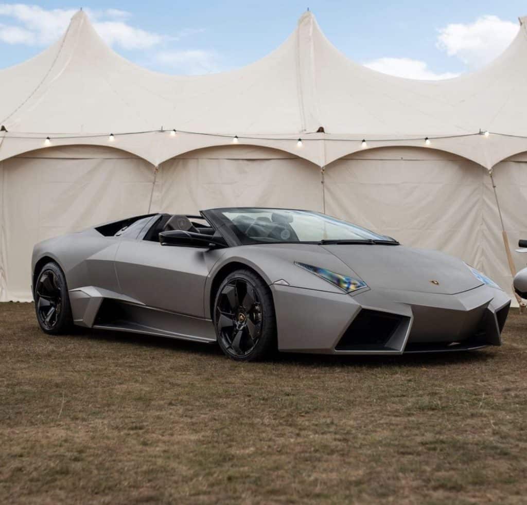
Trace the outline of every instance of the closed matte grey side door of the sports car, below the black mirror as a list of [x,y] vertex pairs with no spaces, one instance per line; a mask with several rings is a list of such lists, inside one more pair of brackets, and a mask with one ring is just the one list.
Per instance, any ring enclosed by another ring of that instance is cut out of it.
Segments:
[[155,308],[204,317],[213,251],[122,238],[115,255],[121,293]]

